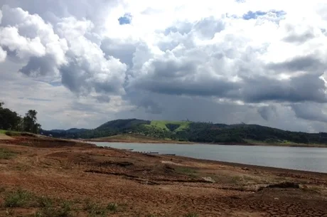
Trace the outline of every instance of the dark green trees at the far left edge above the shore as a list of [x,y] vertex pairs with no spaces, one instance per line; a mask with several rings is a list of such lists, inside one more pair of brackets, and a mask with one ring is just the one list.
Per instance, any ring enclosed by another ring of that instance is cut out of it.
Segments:
[[38,134],[41,125],[37,122],[36,115],[36,110],[28,110],[25,116],[21,117],[17,112],[5,108],[4,102],[0,102],[0,129]]

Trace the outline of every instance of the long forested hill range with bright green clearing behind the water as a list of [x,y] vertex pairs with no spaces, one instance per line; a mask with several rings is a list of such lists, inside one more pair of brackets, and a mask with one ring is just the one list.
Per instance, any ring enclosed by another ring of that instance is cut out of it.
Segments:
[[149,138],[208,143],[327,144],[327,133],[290,132],[260,125],[225,125],[211,122],[112,120],[95,129],[41,129],[41,133],[70,139],[93,139],[117,134],[141,134]]

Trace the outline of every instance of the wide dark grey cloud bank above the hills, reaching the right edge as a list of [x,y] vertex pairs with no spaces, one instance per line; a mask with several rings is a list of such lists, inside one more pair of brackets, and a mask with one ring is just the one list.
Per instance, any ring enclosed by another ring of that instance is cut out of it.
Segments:
[[[218,59],[225,60],[224,54],[221,53]],[[244,72],[238,75],[241,80],[230,81],[224,76],[218,76],[222,68],[199,69],[198,65],[200,64],[203,63],[200,60],[193,61],[192,57],[178,60],[171,57],[166,60],[152,60],[146,68],[147,73],[132,79],[129,87],[166,95],[215,96],[251,103],[269,101],[327,102],[326,87],[323,80],[319,78],[321,73],[304,74],[288,80],[279,80],[264,75],[253,75],[257,69],[250,68],[242,69]],[[223,67],[223,62],[218,67]],[[268,67],[263,67],[262,70],[270,68],[275,73],[280,73],[284,70],[314,71],[323,67],[323,63],[315,58],[296,58],[279,65],[270,64]],[[217,74],[209,73],[212,71]]]

